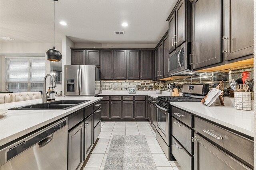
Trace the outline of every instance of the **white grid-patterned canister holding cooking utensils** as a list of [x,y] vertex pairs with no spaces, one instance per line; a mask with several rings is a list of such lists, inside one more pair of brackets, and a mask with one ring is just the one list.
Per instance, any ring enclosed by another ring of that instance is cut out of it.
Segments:
[[234,108],[239,110],[251,110],[251,92],[234,92]]

